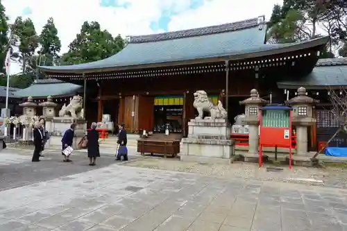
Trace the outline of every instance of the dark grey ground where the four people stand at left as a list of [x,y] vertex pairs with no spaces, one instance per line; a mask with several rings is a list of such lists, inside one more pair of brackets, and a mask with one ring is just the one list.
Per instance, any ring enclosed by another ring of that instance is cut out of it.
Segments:
[[[40,162],[31,162],[32,155],[32,150],[5,149],[0,152],[0,191],[121,163],[115,161],[114,155],[102,153],[96,160],[96,166],[88,166],[87,153],[73,153],[71,163],[62,162],[59,151],[46,150]],[[141,157],[133,155],[129,157],[130,160],[136,160],[136,158]]]

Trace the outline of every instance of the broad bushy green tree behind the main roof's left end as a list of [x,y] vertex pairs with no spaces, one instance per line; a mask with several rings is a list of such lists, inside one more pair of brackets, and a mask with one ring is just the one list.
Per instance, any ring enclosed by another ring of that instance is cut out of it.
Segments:
[[98,22],[84,22],[81,33],[69,44],[69,51],[62,55],[62,65],[74,65],[108,58],[124,48],[120,35],[101,30]]

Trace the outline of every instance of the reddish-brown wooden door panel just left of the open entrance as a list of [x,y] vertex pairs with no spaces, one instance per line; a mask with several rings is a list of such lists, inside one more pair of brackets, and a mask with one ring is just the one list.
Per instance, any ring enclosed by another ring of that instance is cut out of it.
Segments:
[[154,120],[154,97],[138,96],[138,129],[152,131]]

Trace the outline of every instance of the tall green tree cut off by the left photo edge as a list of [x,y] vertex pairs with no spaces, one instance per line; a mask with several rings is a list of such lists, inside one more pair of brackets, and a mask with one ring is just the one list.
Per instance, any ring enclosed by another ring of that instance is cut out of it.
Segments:
[[3,68],[4,68],[5,58],[6,58],[7,48],[8,48],[7,21],[8,21],[8,17],[5,14],[5,7],[2,5],[0,0],[0,73],[5,72]]

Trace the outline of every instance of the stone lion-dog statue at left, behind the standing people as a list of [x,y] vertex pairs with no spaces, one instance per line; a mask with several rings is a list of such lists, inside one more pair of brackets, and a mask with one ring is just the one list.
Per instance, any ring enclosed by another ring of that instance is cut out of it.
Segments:
[[68,105],[63,105],[59,111],[59,117],[72,117],[74,119],[83,119],[83,98],[81,96],[72,97]]

